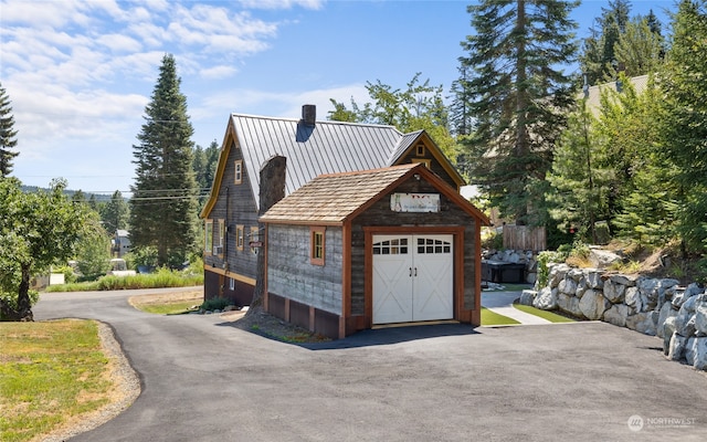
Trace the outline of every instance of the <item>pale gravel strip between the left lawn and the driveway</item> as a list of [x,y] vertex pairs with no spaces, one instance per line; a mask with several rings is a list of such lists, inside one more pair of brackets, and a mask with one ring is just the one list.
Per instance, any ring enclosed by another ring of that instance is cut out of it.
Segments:
[[101,347],[109,360],[108,378],[115,383],[115,389],[110,393],[112,401],[96,411],[70,420],[50,434],[36,439],[39,441],[65,442],[80,433],[98,428],[125,411],[140,396],[140,378],[125,357],[113,328],[105,323],[96,323],[98,324]]

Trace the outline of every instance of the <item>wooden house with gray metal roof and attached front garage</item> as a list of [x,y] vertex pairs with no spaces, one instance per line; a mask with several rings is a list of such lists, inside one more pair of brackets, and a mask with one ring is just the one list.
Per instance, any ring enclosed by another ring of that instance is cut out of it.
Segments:
[[[447,308],[432,316],[478,324],[478,231],[488,220],[460,196],[464,181],[455,168],[423,130],[401,134],[392,126],[317,122],[315,114],[314,106],[305,105],[300,119],[230,116],[211,194],[201,212],[204,297],[250,304],[257,253],[266,253],[266,308],[289,322],[342,337],[383,322],[425,320],[426,316],[378,316],[382,311],[371,304],[379,301],[372,297],[379,285],[373,284],[378,266],[372,265],[370,241],[386,243],[376,246],[384,255],[400,251],[402,240],[408,252],[412,241],[431,241],[433,248],[441,241],[437,245],[452,256],[443,264],[450,267],[452,293],[446,302],[452,303],[452,313]],[[258,171],[275,155],[287,159],[286,197],[258,219]],[[287,204],[303,203],[302,189],[329,201],[326,207],[310,206],[318,208],[317,217],[306,213],[307,208],[282,212]],[[393,193],[401,208],[414,207],[410,199],[416,198],[430,211],[383,210]],[[401,234],[404,238],[398,238]],[[312,241],[317,244],[314,257]],[[287,259],[295,251],[298,254]],[[323,262],[323,256],[330,260]],[[276,264],[277,260],[289,264]],[[299,292],[307,284],[317,291],[326,285],[317,296],[329,299],[303,296]]]

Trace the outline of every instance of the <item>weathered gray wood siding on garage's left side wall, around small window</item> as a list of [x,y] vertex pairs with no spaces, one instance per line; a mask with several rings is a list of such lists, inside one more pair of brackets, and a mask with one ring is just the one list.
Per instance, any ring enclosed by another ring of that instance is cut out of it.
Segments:
[[326,229],[324,266],[309,262],[307,225],[271,224],[267,242],[268,293],[341,314],[341,228]]

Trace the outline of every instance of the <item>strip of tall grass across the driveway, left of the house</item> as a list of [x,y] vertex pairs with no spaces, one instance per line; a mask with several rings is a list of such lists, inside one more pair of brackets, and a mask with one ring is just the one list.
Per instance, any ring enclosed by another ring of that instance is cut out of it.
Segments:
[[46,292],[96,292],[135,288],[190,287],[203,285],[203,273],[190,274],[160,269],[155,273],[138,273],[135,276],[103,276],[98,281],[51,285]]

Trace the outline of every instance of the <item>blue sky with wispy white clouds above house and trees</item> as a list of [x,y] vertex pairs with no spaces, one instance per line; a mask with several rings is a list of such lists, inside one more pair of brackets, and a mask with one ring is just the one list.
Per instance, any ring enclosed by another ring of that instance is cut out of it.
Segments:
[[[18,130],[12,176],[46,187],[129,194],[133,146],[166,53],[173,54],[194,128],[221,145],[231,113],[299,118],[330,98],[368,101],[421,73],[445,95],[474,0],[0,0],[0,83]],[[608,0],[572,18],[588,35]],[[664,24],[674,0],[633,0]],[[572,67],[568,67],[571,70]]]

